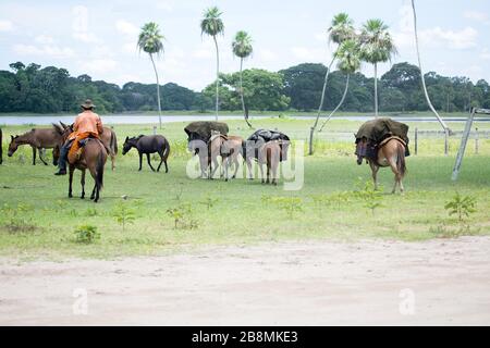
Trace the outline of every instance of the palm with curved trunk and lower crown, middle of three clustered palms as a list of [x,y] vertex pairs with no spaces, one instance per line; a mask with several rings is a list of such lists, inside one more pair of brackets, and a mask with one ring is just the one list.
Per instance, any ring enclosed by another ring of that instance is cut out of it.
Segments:
[[348,39],[342,42],[341,46],[339,47],[339,50],[336,51],[336,60],[339,61],[336,67],[346,75],[345,90],[340,103],[323,122],[319,132],[323,129],[327,122],[329,122],[329,120],[333,116],[333,114],[344,103],[345,97],[347,96],[350,76],[351,74],[354,74],[356,71],[360,69],[359,42],[356,39]]

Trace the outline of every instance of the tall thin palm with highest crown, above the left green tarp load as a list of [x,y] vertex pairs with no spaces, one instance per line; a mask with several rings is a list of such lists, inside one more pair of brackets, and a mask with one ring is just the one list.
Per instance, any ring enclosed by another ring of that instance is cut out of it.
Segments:
[[201,35],[207,34],[212,36],[216,46],[216,120],[218,121],[219,102],[220,102],[220,51],[218,48],[218,34],[224,33],[224,24],[221,21],[221,12],[217,7],[209,8],[204,13],[204,18],[200,21]]

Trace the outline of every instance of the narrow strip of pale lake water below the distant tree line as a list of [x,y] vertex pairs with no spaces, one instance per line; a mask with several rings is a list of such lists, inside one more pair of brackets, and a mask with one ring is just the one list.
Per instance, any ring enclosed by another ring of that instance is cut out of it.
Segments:
[[[271,119],[278,116],[250,116],[250,120]],[[162,123],[171,122],[193,122],[193,121],[215,121],[213,115],[164,115],[161,117]],[[220,120],[242,120],[241,115],[220,115]],[[289,116],[295,120],[313,120],[315,116]],[[438,122],[434,117],[428,116],[392,116],[393,120],[400,122]],[[75,115],[46,115],[46,116],[0,116],[0,125],[49,125],[59,121],[71,124],[75,120]],[[372,116],[334,116],[332,120],[343,121],[360,121],[372,120]],[[476,117],[478,122],[490,122],[490,117]],[[158,116],[148,115],[123,115],[111,114],[102,115],[105,124],[158,124]],[[446,122],[466,122],[465,117],[448,117]]]

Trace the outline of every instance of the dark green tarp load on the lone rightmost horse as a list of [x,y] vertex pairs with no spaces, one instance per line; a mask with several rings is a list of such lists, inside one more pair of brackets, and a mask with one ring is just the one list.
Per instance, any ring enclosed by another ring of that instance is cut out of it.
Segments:
[[408,144],[408,126],[391,119],[377,119],[363,124],[356,134],[356,142],[362,138],[371,144],[380,144],[385,138],[396,136]]

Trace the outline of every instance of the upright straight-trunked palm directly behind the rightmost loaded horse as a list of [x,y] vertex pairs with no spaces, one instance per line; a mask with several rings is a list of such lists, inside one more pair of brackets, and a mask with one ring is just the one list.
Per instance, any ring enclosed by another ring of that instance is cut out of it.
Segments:
[[369,20],[360,34],[360,58],[375,65],[375,116],[378,117],[378,64],[391,61],[396,54],[388,25],[381,20]]

